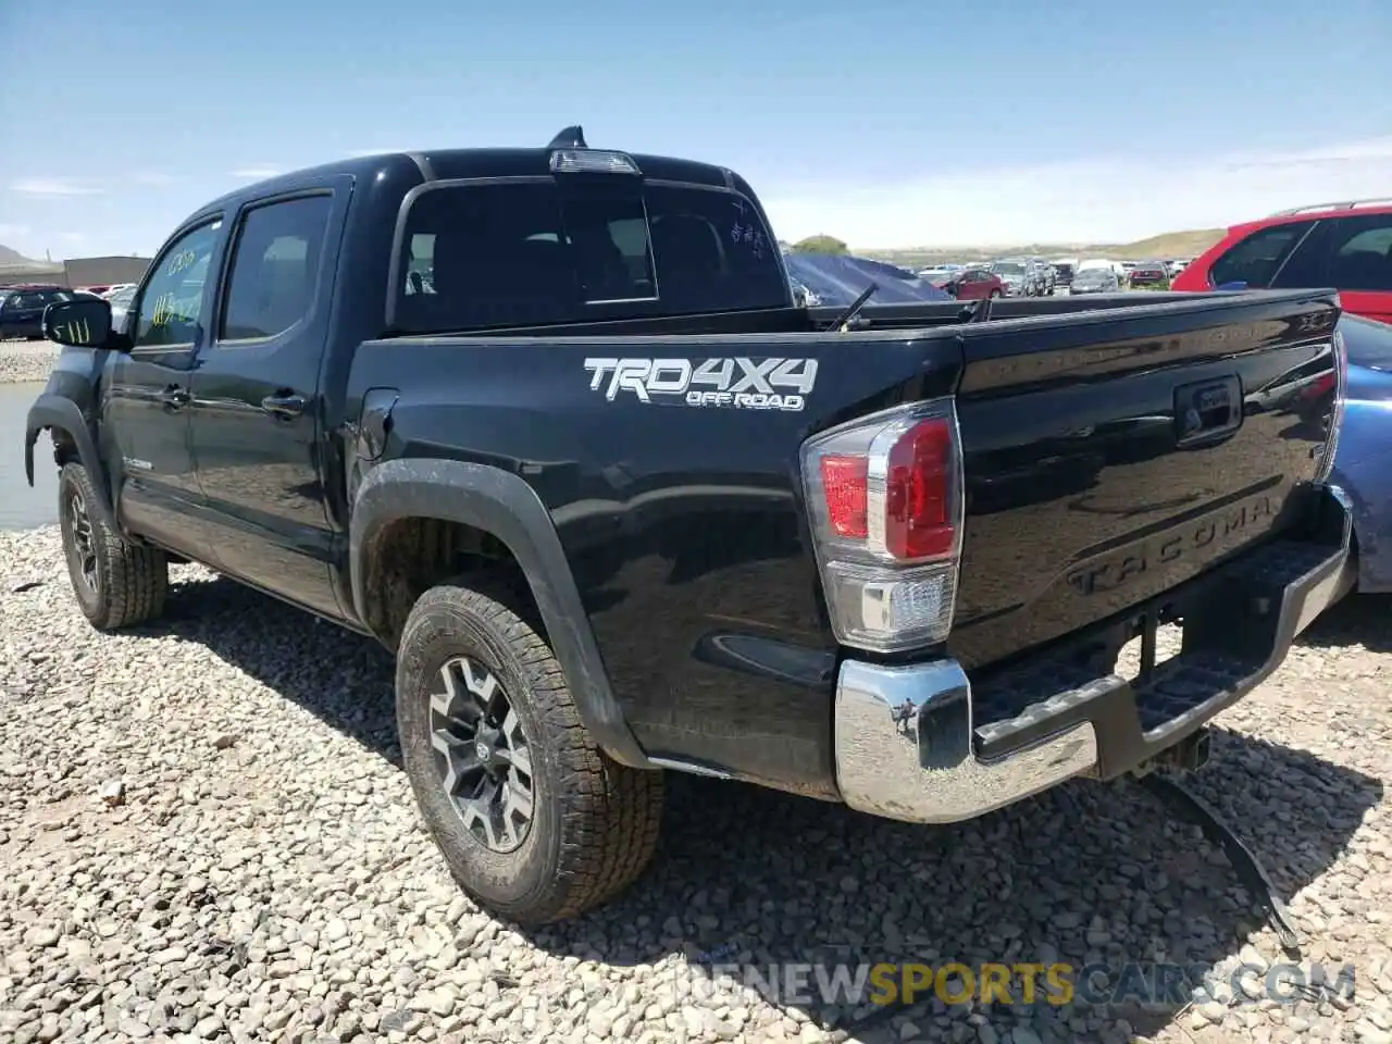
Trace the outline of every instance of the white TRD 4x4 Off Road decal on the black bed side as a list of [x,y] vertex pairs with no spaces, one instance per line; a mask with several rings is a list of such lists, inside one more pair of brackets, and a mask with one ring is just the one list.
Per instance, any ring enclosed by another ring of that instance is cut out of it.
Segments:
[[816,359],[586,359],[590,391],[615,401],[732,409],[786,409],[806,405],[817,383]]

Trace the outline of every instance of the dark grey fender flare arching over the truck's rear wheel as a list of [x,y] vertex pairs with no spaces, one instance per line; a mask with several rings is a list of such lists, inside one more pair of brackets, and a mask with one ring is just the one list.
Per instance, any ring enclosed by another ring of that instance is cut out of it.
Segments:
[[411,458],[373,468],[358,489],[348,526],[358,619],[369,618],[367,548],[387,525],[404,518],[461,522],[491,533],[508,547],[541,612],[580,721],[615,761],[650,768],[614,697],[565,548],[536,491],[511,472],[465,461]]

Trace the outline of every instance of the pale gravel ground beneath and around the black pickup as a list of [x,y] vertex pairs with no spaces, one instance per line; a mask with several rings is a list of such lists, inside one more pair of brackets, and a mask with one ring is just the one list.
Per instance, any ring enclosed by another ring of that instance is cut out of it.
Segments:
[[1192,777],[1288,899],[1300,959],[1354,963],[1352,1001],[933,999],[864,1027],[696,988],[700,956],[1279,951],[1196,827],[1136,785],[1089,782],[927,830],[678,778],[626,896],[522,933],[457,891],[422,830],[380,647],[202,568],[174,579],[164,621],[103,636],[57,530],[0,533],[0,1040],[1392,1041],[1386,600],[1320,621]]

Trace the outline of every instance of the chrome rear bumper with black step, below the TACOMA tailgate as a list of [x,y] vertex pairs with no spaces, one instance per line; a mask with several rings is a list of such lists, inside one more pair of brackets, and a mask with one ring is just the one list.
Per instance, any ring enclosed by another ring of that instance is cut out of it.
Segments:
[[845,660],[834,720],[842,800],[885,818],[956,823],[1157,757],[1251,692],[1295,636],[1347,593],[1349,508],[1342,490],[1328,487],[1308,539],[1264,546],[1137,607],[1154,614],[1164,606],[1196,629],[1144,679],[1080,674],[1066,650],[1051,650],[973,696],[955,660]]

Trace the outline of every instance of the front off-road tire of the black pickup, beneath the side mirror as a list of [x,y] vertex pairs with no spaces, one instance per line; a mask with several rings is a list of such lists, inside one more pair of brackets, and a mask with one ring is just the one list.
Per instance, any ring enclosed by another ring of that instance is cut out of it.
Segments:
[[[68,579],[82,615],[99,631],[157,618],[164,612],[170,586],[164,553],[122,537],[102,519],[96,505],[96,487],[86,468],[81,464],[63,465],[58,472],[58,528]],[[93,568],[88,575],[92,582],[85,579],[78,543],[84,523],[89,533],[88,561]]]

